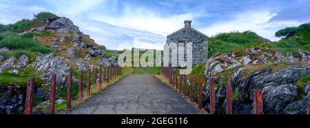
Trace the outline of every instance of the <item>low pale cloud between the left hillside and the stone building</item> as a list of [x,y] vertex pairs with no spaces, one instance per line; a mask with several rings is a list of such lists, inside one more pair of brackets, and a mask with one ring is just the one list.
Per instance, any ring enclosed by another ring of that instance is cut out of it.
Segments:
[[[90,34],[91,38],[99,45],[105,45],[108,49],[116,50],[122,44],[134,43],[134,37],[141,40],[141,47],[161,50],[165,43],[165,36],[147,32],[143,30],[135,30],[132,28],[123,28],[116,25],[110,25],[101,21],[94,21],[90,19],[79,19],[77,17],[70,17],[75,25],[79,26],[81,31],[85,34]],[[127,47],[127,46],[126,46]],[[132,47],[127,47],[131,49]]]

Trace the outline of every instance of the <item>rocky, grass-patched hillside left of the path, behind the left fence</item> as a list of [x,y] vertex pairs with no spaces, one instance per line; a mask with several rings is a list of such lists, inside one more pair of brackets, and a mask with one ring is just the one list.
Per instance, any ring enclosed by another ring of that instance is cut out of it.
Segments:
[[[49,12],[35,14],[34,19],[0,25],[0,97],[8,97],[1,98],[0,106],[5,107],[0,107],[0,113],[22,112],[28,77],[33,76],[36,81],[37,105],[48,100],[52,74],[56,74],[61,93],[70,71],[76,85],[79,70],[86,71],[88,65],[116,64],[112,59],[116,57],[106,52],[105,46],[83,34],[70,19]],[[61,96],[58,98],[65,98]]]

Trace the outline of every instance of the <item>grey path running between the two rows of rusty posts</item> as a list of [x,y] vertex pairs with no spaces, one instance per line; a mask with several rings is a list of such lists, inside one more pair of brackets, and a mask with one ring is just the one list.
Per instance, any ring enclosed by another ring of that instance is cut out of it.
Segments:
[[66,114],[200,114],[194,105],[154,76],[122,78]]

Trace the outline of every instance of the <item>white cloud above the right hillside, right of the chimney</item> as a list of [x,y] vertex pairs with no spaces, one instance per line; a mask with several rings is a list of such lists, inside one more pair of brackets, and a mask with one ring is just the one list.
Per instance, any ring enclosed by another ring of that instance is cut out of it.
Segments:
[[251,30],[266,39],[278,41],[278,38],[274,36],[276,31],[285,27],[300,25],[298,21],[270,21],[275,16],[276,13],[271,13],[268,10],[243,12],[236,14],[236,17],[231,21],[220,21],[198,30],[208,36],[214,36],[220,32]]

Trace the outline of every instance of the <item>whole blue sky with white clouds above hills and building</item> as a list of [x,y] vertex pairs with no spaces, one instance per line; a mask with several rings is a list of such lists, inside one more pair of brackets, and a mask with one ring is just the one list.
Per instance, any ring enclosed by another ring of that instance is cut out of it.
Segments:
[[32,19],[48,11],[72,19],[85,34],[108,49],[130,47],[134,37],[143,47],[161,49],[165,37],[192,27],[208,36],[251,30],[271,41],[274,32],[310,22],[309,0],[0,0],[0,23]]

